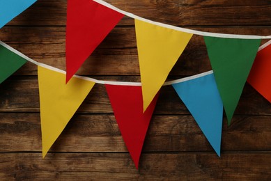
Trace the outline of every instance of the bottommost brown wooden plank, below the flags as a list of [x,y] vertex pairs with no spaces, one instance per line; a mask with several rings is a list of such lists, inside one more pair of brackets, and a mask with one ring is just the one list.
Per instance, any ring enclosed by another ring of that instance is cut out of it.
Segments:
[[139,171],[127,153],[0,154],[3,180],[270,180],[270,152],[143,154]]

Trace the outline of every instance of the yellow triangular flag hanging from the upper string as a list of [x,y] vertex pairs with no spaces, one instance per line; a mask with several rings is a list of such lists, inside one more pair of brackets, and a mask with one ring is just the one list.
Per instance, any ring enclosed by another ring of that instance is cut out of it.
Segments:
[[135,29],[145,111],[193,34],[138,19],[135,19]]

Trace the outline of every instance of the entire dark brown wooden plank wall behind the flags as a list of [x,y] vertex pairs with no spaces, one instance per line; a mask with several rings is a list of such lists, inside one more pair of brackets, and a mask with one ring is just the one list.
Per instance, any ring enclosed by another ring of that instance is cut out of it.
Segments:
[[[189,29],[271,35],[270,0],[107,2]],[[38,0],[0,29],[0,40],[65,70],[65,13],[64,0]],[[193,36],[169,79],[208,70],[203,37]],[[78,74],[140,81],[133,19],[124,17]],[[138,171],[104,86],[95,85],[45,159],[39,111],[37,67],[26,63],[0,84],[0,180],[271,180],[271,105],[248,84],[230,127],[224,118],[221,158],[173,88],[163,87]]]

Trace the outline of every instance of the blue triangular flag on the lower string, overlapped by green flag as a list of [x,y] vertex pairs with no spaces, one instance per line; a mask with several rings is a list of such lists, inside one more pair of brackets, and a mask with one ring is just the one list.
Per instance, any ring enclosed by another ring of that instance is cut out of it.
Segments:
[[223,104],[214,74],[172,85],[220,157]]

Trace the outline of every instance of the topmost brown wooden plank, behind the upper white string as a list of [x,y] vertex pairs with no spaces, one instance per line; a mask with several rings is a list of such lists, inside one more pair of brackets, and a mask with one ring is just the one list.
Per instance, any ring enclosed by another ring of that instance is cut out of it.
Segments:
[[[172,25],[270,25],[270,1],[125,1],[108,3],[157,22]],[[215,15],[215,18],[214,18]],[[65,26],[66,0],[39,0],[10,25]],[[130,25],[133,19],[125,17],[121,25]]]

